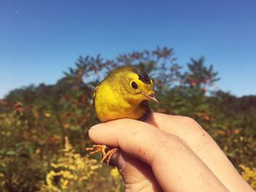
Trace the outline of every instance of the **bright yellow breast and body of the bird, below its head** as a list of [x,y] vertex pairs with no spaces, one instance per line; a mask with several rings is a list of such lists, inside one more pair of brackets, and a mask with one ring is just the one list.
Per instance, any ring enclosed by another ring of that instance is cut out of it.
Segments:
[[129,104],[121,91],[113,91],[113,85],[108,81],[100,83],[94,92],[94,108],[99,120],[120,118],[140,119],[146,114],[147,108],[143,104]]

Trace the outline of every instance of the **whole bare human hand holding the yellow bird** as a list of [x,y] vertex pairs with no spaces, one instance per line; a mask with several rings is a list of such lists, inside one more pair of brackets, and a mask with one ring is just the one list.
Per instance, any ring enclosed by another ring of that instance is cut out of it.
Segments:
[[89,130],[97,144],[118,147],[126,191],[254,191],[214,139],[191,118],[153,113],[99,123]]

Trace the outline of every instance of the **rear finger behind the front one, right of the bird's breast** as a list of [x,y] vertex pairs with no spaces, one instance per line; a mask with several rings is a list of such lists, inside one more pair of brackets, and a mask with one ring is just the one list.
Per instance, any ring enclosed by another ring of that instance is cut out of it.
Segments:
[[183,139],[230,191],[249,187],[214,139],[192,118],[153,113],[147,122]]

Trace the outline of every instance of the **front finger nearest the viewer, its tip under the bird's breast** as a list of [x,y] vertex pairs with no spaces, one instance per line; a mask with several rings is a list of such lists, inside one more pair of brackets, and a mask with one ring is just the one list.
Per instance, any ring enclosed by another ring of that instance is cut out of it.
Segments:
[[145,161],[164,191],[189,191],[198,186],[201,191],[225,191],[222,183],[186,143],[148,123],[113,120],[91,128],[89,137],[100,144],[120,147],[124,153]]

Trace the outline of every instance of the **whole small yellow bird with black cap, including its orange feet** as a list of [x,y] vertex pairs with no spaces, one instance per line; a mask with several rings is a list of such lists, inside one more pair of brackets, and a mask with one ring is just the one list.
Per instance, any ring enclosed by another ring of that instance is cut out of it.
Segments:
[[[148,100],[159,104],[152,80],[135,66],[114,69],[94,89],[94,109],[102,122],[120,118],[143,120],[151,112]],[[118,149],[93,145],[86,150],[91,151],[90,155],[102,151],[100,162],[109,164]]]

